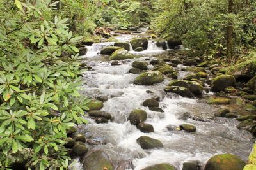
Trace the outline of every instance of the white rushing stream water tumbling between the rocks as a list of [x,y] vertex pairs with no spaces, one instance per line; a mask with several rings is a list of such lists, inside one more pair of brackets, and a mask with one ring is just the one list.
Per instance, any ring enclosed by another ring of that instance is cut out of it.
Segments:
[[[116,39],[127,41],[134,36],[138,35],[120,35]],[[111,113],[113,119],[108,124],[96,124],[89,118],[90,123],[80,125],[78,129],[79,133],[85,134],[94,144],[93,148],[100,148],[109,155],[115,169],[140,170],[158,163],[170,163],[177,169],[182,169],[182,162],[198,160],[204,164],[216,153],[233,153],[243,160],[247,159],[253,145],[252,135],[246,131],[239,131],[236,128],[236,120],[213,118],[214,111],[217,110],[216,106],[210,106],[202,99],[166,94],[163,88],[171,80],[168,78],[157,85],[133,84],[138,75],[128,71],[132,68],[131,64],[134,60],[156,59],[157,56],[166,54],[170,50],[164,51],[150,41],[148,50],[131,51],[143,57],[124,60],[120,66],[111,66],[108,56],[99,55],[104,46],[110,45],[113,43],[95,43],[88,46],[84,60],[92,66],[92,70],[84,73],[83,93],[90,97],[108,97],[102,110]],[[181,67],[180,65],[177,69]],[[188,72],[180,71],[179,78],[186,74]],[[153,93],[148,93],[147,90]],[[160,97],[159,104],[164,113],[150,111],[142,106],[145,99],[155,96]],[[154,132],[144,134],[127,121],[129,113],[138,108],[147,111],[146,122],[154,126]],[[207,121],[179,119],[185,112],[196,116],[204,115]],[[179,126],[183,123],[196,125],[196,132],[175,132],[166,129],[167,125]],[[136,139],[140,136],[159,139],[164,147],[143,150],[136,143]],[[77,164],[76,169],[83,168]]]

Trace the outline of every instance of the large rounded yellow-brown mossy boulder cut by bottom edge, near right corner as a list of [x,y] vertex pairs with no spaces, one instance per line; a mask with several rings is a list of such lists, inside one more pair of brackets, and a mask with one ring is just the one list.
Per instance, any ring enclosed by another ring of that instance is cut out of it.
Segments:
[[245,162],[236,155],[221,154],[211,157],[204,170],[243,170]]

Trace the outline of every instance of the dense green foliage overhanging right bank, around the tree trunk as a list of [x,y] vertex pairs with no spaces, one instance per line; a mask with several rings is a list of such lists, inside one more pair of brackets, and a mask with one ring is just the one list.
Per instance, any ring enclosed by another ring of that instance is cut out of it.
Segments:
[[156,31],[166,39],[182,40],[196,54],[225,55],[227,23],[234,25],[234,50],[256,45],[255,1],[234,1],[234,13],[228,13],[228,1],[158,0]]

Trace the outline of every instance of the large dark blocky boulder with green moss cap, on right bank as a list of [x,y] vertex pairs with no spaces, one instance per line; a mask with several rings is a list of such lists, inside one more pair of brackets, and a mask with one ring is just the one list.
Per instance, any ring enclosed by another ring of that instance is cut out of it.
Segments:
[[236,86],[236,79],[234,76],[228,75],[221,75],[217,76],[212,80],[212,88],[213,92],[220,92],[224,91],[226,87],[235,87]]

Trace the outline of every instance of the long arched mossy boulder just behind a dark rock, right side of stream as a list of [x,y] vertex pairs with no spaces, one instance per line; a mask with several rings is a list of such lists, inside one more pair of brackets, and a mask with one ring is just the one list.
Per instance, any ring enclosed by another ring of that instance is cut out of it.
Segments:
[[169,86],[185,87],[195,95],[201,95],[204,90],[204,87],[195,81],[173,80],[169,83]]

